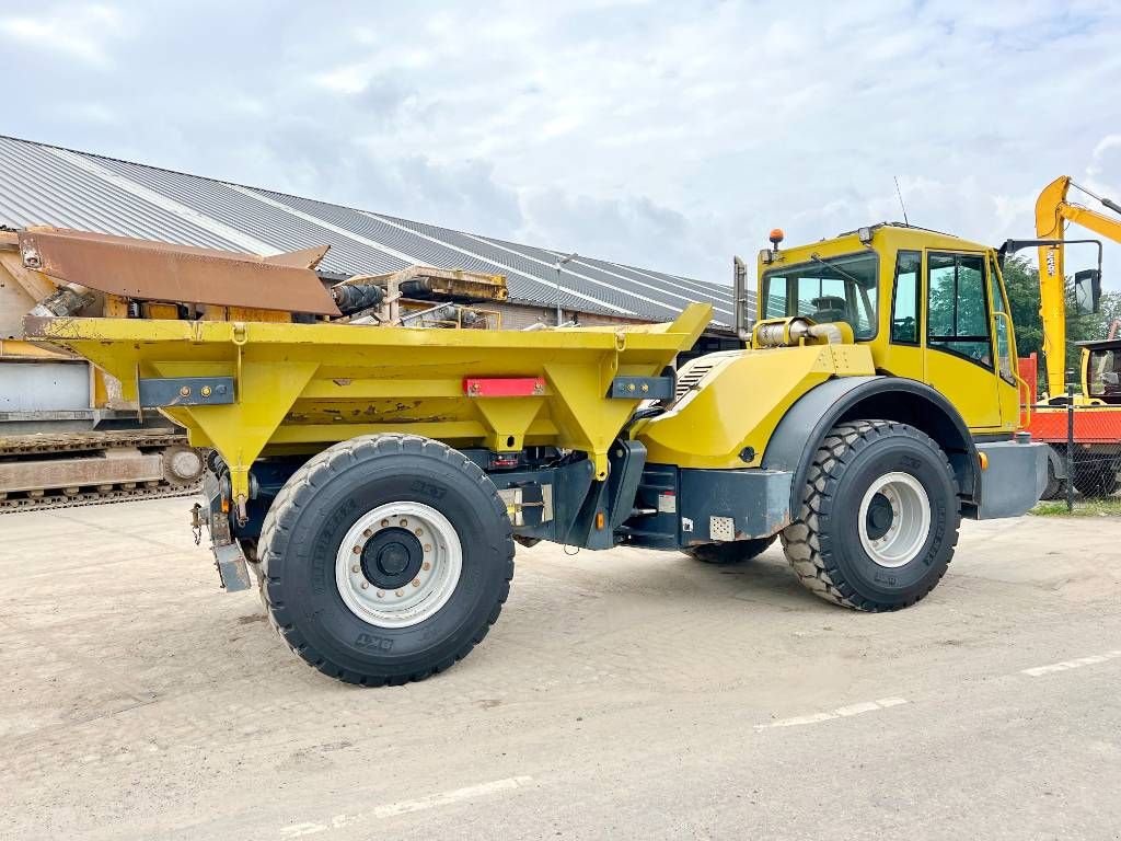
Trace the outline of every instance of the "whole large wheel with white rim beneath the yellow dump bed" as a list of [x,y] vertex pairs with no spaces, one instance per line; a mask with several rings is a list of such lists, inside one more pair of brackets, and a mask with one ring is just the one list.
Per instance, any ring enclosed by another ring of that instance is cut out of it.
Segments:
[[261,533],[263,593],[291,649],[379,686],[481,643],[513,576],[506,506],[462,453],[413,435],[335,444],[285,483]]

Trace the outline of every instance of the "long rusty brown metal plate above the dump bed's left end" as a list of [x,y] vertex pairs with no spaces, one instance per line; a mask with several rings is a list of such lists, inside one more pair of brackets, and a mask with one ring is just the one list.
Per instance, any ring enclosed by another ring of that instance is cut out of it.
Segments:
[[309,268],[328,246],[257,257],[56,228],[19,233],[24,265],[63,283],[140,301],[341,315]]

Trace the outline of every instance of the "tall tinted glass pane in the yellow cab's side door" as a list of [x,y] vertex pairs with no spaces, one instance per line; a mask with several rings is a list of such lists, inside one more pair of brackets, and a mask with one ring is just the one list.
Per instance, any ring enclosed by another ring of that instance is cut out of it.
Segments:
[[992,368],[984,259],[981,255],[927,256],[927,345]]

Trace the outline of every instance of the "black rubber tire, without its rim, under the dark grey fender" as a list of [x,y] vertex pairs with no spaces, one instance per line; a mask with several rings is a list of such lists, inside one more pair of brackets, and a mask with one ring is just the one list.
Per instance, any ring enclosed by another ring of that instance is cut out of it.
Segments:
[[[858,520],[871,483],[896,471],[926,490],[930,530],[914,560],[888,569],[864,552]],[[928,435],[893,420],[852,420],[833,427],[814,454],[798,518],[782,530],[782,548],[799,581],[821,598],[858,610],[898,610],[942,580],[960,523],[953,469]]]

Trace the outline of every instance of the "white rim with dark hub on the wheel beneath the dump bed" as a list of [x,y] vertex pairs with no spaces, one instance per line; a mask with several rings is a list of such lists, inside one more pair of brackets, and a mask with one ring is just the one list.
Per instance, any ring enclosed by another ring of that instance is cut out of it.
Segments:
[[[408,563],[396,574],[382,569],[385,563],[392,572],[405,556]],[[452,598],[462,571],[455,527],[423,502],[389,502],[368,511],[351,526],[335,556],[335,584],[343,603],[379,628],[407,628],[435,616]]]

